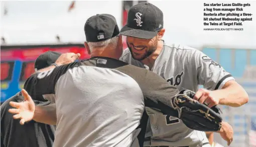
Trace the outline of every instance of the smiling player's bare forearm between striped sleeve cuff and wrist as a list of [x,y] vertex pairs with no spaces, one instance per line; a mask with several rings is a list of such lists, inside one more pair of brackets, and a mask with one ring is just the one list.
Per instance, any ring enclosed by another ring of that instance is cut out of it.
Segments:
[[235,81],[231,81],[228,86],[215,91],[221,95],[219,104],[222,105],[238,107],[247,103],[249,99],[247,92]]

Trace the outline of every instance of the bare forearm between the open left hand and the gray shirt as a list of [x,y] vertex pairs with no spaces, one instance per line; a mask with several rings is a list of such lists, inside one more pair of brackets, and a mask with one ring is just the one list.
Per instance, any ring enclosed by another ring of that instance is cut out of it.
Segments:
[[41,123],[55,125],[57,122],[56,104],[36,106],[33,120]]

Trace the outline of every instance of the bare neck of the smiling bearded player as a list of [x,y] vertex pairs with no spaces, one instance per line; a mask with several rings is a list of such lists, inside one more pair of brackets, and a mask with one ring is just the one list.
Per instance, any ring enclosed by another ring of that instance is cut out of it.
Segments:
[[161,51],[163,49],[163,46],[164,46],[164,41],[159,40],[158,44],[157,44],[157,49],[149,57],[142,60],[142,62],[144,64],[148,65],[150,67],[150,69],[154,66],[157,57],[159,56],[159,54],[161,53]]

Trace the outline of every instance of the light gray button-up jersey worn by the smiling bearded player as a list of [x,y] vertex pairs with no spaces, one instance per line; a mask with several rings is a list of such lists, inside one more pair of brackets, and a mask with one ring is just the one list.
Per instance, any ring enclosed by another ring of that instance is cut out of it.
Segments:
[[[129,48],[124,50],[120,60],[148,68],[132,57]],[[234,79],[220,64],[200,50],[180,44],[164,44],[151,70],[179,90],[185,88],[197,91],[199,85],[210,90],[221,89],[225,82]],[[188,128],[176,117],[163,115],[150,107],[146,107],[146,110],[150,123],[147,126],[144,146],[202,146],[202,142],[207,140],[204,132]]]

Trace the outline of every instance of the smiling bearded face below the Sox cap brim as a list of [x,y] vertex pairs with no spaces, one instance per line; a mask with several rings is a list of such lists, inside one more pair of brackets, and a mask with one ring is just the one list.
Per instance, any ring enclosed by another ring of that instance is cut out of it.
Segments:
[[137,60],[143,60],[150,56],[157,49],[158,39],[157,36],[151,39],[127,36],[126,43],[132,52],[133,58]]

